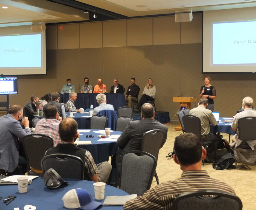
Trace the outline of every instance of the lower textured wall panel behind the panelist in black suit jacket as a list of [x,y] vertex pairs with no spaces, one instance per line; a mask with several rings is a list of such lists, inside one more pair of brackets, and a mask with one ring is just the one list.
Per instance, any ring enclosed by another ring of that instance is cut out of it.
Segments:
[[108,47],[103,48],[103,78],[104,84],[107,86],[107,93],[110,92],[110,87],[115,78],[119,84],[123,85],[125,90],[127,87],[127,69],[126,69],[126,47]]

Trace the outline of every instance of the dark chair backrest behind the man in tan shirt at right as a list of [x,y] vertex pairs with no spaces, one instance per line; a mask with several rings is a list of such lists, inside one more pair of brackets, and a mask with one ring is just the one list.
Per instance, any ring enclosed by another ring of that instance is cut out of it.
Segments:
[[182,122],[185,132],[197,135],[197,137],[202,141],[200,118],[194,115],[185,115],[182,117]]

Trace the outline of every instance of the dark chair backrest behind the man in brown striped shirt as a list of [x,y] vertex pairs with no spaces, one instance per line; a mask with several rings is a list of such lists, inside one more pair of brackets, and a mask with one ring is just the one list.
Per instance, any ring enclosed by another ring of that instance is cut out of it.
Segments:
[[[206,197],[203,195],[215,195]],[[243,204],[236,195],[215,191],[203,190],[183,193],[174,199],[173,210],[196,209],[196,210],[242,210]]]

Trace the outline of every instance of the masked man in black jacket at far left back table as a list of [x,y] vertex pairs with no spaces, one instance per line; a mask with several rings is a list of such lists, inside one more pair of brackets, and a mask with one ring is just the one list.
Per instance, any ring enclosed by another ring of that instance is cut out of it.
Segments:
[[28,117],[30,126],[32,127],[32,119],[34,115],[36,115],[36,106],[39,101],[39,97],[37,95],[32,95],[30,97],[30,101],[25,104],[23,107],[23,117]]

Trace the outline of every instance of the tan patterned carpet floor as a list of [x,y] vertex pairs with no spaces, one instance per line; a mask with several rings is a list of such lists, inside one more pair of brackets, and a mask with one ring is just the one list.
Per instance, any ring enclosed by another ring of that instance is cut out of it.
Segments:
[[[178,122],[168,124],[168,137],[165,145],[160,149],[157,163],[157,175],[159,182],[175,180],[180,177],[182,171],[178,164],[173,159],[168,160],[165,156],[173,151],[174,139],[180,135],[181,131],[175,131],[173,127],[178,126]],[[225,139],[229,135],[221,133]],[[231,136],[232,138],[232,136]],[[240,197],[243,203],[243,210],[256,209],[256,166],[246,166],[238,163],[238,170],[235,170],[235,163],[231,169],[215,170],[212,168],[211,163],[205,163],[202,169],[206,170],[209,175],[214,179],[219,179],[229,184]],[[156,185],[155,178],[153,179],[152,186]]]

